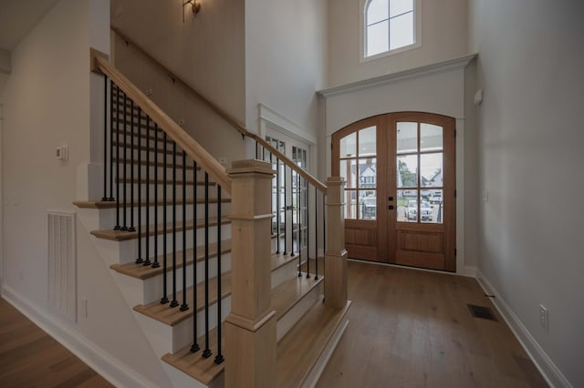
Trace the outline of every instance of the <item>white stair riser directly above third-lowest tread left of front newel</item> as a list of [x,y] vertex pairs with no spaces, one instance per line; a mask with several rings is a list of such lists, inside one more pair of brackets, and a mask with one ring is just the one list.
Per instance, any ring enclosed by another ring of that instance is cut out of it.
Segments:
[[[187,230],[186,248],[193,248],[193,230]],[[222,236],[221,240],[228,240],[231,238],[231,226],[229,224],[224,224],[222,226]],[[137,240],[124,240],[124,241],[112,241],[104,239],[96,239],[97,246],[108,265],[111,264],[125,264],[138,259],[138,242]],[[145,240],[142,239],[142,240]],[[154,238],[151,237],[149,245],[150,257],[154,256]],[[216,227],[209,229],[209,242],[212,243],[217,240],[217,230]],[[158,237],[158,254],[162,254],[163,249],[163,237],[159,235]],[[204,243],[204,230],[197,230],[197,245],[202,245]],[[168,234],[166,237],[166,251],[167,253],[172,252],[172,234]],[[146,257],[146,246],[142,242],[141,246],[142,256]],[[182,232],[176,235],[176,250],[183,250],[183,236]]]

